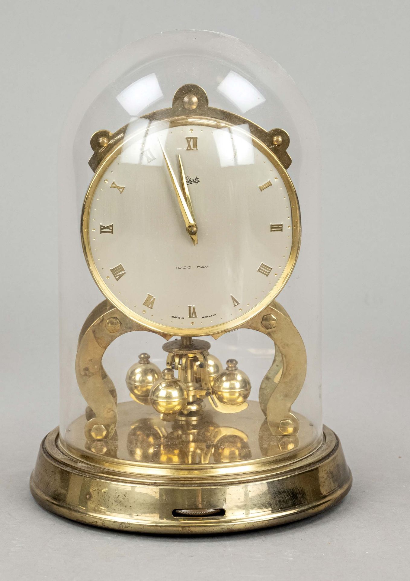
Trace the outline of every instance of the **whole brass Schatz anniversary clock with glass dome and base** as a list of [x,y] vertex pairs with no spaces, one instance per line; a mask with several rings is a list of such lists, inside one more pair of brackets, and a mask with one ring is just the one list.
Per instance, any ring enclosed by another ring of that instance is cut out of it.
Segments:
[[303,98],[233,37],[156,35],[97,71],[61,145],[61,421],[31,477],[43,507],[227,532],[349,491],[321,423],[318,181]]

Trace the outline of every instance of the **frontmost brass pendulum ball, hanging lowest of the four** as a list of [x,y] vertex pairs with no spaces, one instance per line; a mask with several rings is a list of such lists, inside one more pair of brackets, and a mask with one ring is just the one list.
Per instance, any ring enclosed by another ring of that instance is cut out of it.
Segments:
[[183,410],[188,402],[187,390],[179,379],[173,375],[173,370],[166,367],[162,371],[162,379],[154,383],[150,392],[150,402],[159,414],[176,414]]

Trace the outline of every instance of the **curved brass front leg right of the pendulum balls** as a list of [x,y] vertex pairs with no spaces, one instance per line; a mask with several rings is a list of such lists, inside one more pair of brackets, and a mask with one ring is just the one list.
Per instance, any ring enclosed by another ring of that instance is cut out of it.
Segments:
[[275,436],[296,435],[299,422],[291,406],[302,389],[307,366],[302,337],[288,313],[275,301],[241,328],[260,331],[274,341],[273,364],[260,385],[260,407]]

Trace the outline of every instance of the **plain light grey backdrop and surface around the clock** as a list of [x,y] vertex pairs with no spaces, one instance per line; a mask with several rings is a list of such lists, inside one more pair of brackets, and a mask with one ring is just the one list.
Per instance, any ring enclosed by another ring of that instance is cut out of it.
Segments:
[[[408,579],[409,6],[2,1],[2,579]],[[339,507],[277,529],[120,534],[57,518],[28,491],[39,442],[58,421],[63,119],[101,60],[172,28],[223,31],[273,56],[321,135],[324,421],[354,485]]]

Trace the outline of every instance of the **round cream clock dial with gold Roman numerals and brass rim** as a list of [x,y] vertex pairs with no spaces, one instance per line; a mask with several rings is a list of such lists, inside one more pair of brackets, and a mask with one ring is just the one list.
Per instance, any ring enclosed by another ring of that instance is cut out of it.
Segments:
[[147,327],[212,335],[262,310],[300,242],[288,174],[244,125],[130,124],[90,185],[86,259],[104,295]]

